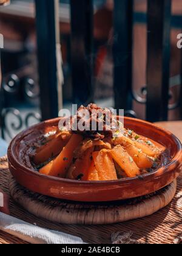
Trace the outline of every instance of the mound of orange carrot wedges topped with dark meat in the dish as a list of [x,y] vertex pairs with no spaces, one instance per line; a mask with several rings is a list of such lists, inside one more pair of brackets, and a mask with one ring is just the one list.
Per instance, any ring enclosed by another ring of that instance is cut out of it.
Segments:
[[[106,108],[90,104],[91,110],[103,112],[107,123]],[[79,113],[79,110],[78,110]],[[76,122],[78,122],[78,113]],[[72,123],[75,117],[72,118]],[[99,126],[97,126],[99,127]],[[49,127],[29,152],[31,164],[40,174],[72,180],[104,181],[132,178],[156,171],[167,163],[166,149],[157,142],[143,137],[134,130],[66,130]]]

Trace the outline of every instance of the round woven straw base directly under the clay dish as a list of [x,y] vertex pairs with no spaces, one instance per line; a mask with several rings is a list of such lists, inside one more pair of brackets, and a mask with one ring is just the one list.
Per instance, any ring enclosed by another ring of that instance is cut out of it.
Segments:
[[152,215],[175,196],[177,181],[156,193],[120,202],[79,203],[32,193],[10,177],[10,195],[33,215],[61,224],[113,224]]

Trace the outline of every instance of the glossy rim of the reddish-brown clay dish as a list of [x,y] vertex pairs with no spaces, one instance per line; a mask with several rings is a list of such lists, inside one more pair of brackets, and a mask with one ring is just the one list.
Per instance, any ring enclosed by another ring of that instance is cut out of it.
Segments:
[[[12,163],[16,162],[16,166],[17,168],[20,169],[24,169],[25,172],[29,172],[30,174],[34,175],[34,176],[39,176],[42,179],[46,179],[46,180],[52,180],[52,181],[56,181],[56,182],[65,182],[65,183],[70,183],[70,184],[77,184],[77,185],[113,185],[114,184],[120,184],[123,182],[135,182],[136,180],[138,180],[138,176],[136,177],[132,177],[132,178],[123,178],[120,180],[106,180],[106,181],[81,181],[81,180],[70,180],[70,179],[64,179],[64,178],[59,178],[59,177],[53,177],[53,176],[46,176],[44,174],[40,174],[38,171],[33,171],[30,168],[27,168],[27,166],[22,165],[21,163],[18,162],[18,159],[16,158],[16,155],[14,154],[14,147],[16,145],[16,141],[20,140],[20,138],[24,138],[27,135],[29,135],[29,131],[35,130],[37,127],[41,126],[42,124],[49,124],[52,123],[56,123],[57,121],[59,121],[61,118],[54,118],[54,119],[49,119],[47,121],[43,121],[41,123],[35,124],[34,126],[29,127],[29,129],[26,129],[20,133],[18,133],[18,135],[16,135],[15,138],[13,138],[13,140],[11,141],[9,147],[8,147],[8,152],[7,152],[7,156],[8,156],[8,162]],[[179,165],[179,161],[182,160],[182,144],[180,142],[180,140],[175,137],[175,135],[171,132],[169,132],[166,129],[163,129],[159,126],[157,126],[156,124],[152,124],[149,123],[147,121],[143,121],[141,119],[136,119],[136,118],[129,118],[129,117],[124,117],[125,120],[130,120],[130,121],[134,121],[136,123],[141,123],[141,124],[145,124],[147,127],[153,127],[156,130],[159,130],[163,133],[165,133],[167,135],[167,137],[171,137],[172,140],[175,142],[175,144],[177,145],[177,153],[174,155],[174,157],[170,160],[169,163],[167,163],[167,165],[161,166],[160,168],[156,169],[153,172],[149,172],[147,174],[143,174],[141,175],[141,177],[143,177],[145,180],[147,178],[150,178],[150,180],[152,180],[153,178],[156,177],[160,177],[163,176],[164,173],[172,171],[172,169],[176,168]],[[141,134],[142,135],[142,134]],[[158,141],[157,141],[158,142]],[[12,159],[13,158],[13,159]]]

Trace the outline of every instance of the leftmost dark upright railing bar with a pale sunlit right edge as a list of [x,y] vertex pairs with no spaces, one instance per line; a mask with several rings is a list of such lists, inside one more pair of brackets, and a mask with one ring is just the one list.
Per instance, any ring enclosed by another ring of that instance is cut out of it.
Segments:
[[[59,95],[62,94],[58,66],[59,23],[58,0],[35,0],[36,35],[38,44],[39,87],[42,119],[56,118]],[[62,95],[61,95],[62,96]]]

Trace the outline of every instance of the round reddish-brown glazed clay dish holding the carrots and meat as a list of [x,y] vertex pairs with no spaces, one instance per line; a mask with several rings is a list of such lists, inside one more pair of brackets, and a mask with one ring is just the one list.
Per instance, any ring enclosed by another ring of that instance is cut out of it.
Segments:
[[57,126],[59,118],[45,121],[19,133],[8,148],[8,165],[16,181],[30,191],[69,201],[106,202],[143,196],[169,185],[182,168],[182,146],[170,132],[139,119],[124,118],[124,126],[165,146],[170,160],[142,177],[106,182],[83,182],[44,176],[30,163],[30,146],[44,133],[45,127]]

